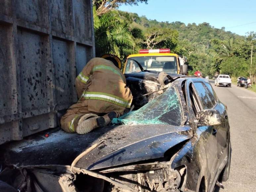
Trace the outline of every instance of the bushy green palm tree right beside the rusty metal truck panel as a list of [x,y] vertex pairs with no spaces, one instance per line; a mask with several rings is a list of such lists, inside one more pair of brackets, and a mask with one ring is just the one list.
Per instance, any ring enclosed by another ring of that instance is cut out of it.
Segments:
[[96,55],[111,53],[124,59],[136,49],[136,39],[142,31],[128,26],[120,19],[118,11],[109,11],[101,16],[94,14]]

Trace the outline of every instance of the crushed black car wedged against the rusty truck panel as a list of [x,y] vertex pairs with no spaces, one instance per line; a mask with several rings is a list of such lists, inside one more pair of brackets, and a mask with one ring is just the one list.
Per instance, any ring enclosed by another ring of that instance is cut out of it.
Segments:
[[230,171],[227,107],[209,81],[126,74],[134,109],[85,135],[57,130],[1,146],[18,191],[213,191]]

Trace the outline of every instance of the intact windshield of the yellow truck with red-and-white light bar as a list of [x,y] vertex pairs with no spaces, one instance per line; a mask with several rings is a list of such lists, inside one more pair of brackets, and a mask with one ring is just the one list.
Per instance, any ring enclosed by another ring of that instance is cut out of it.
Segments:
[[141,72],[138,62],[143,70],[177,73],[177,60],[174,56],[145,56],[131,57],[127,60],[125,73]]

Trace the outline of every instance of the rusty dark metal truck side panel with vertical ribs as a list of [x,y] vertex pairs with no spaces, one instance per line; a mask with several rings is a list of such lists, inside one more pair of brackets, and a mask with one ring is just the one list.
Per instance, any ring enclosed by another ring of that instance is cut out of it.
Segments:
[[0,3],[0,144],[57,126],[95,56],[92,1]]

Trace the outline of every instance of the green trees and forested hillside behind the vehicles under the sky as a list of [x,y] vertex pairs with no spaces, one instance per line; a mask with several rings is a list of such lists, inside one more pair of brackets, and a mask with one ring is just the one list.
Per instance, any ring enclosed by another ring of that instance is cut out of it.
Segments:
[[96,56],[112,53],[124,60],[139,49],[170,48],[187,57],[189,74],[199,70],[212,77],[220,72],[256,81],[256,32],[240,36],[209,23],[158,22],[117,10],[121,4],[138,2],[147,0],[93,1]]

